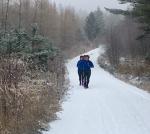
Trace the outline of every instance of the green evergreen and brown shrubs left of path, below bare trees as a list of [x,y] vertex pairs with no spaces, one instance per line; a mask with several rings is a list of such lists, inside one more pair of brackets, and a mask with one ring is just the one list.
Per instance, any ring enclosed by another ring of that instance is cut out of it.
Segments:
[[61,52],[47,38],[12,30],[0,34],[0,133],[40,133],[56,119],[64,88]]

